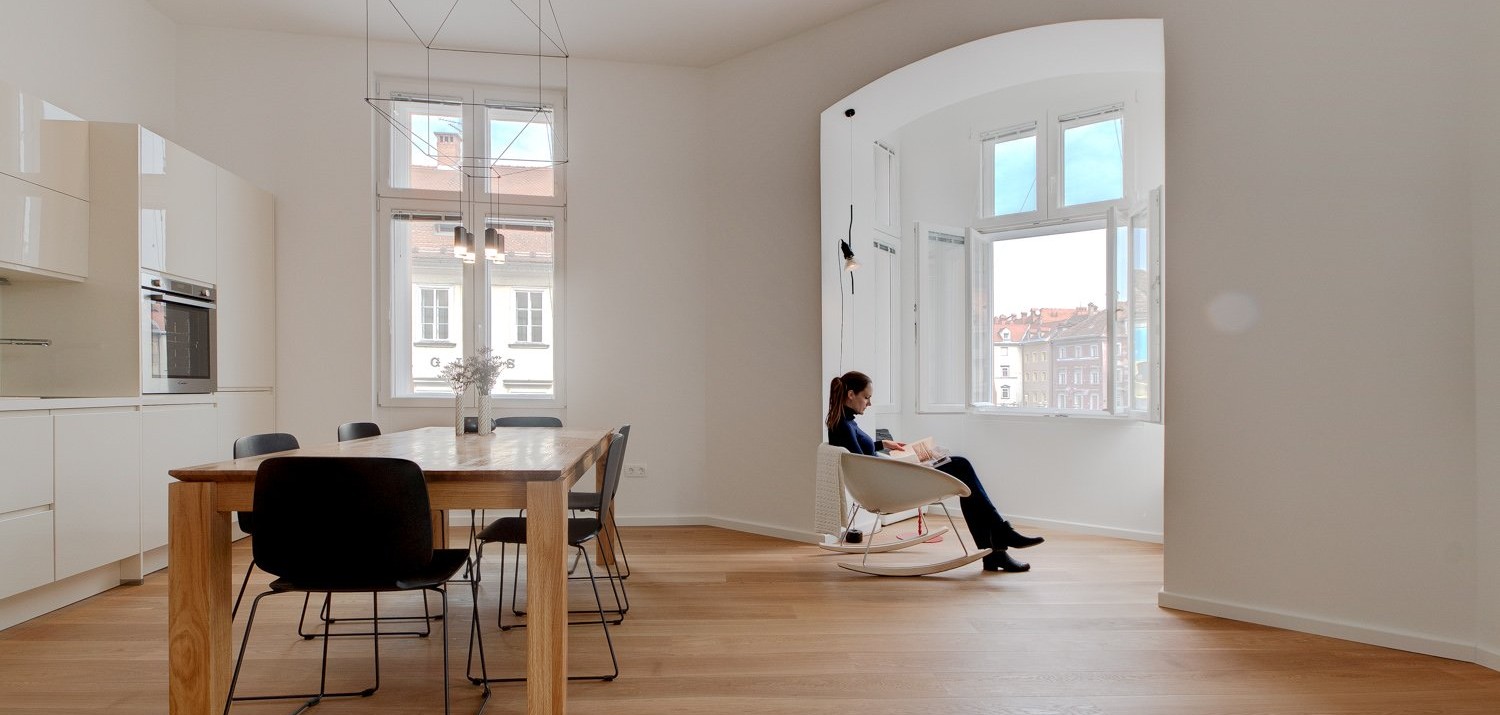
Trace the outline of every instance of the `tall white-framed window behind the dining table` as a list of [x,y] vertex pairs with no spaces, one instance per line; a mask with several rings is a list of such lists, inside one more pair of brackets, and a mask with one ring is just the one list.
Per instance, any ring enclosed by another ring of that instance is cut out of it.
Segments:
[[[507,366],[495,396],[560,402],[564,97],[393,79],[380,93],[382,403],[450,396],[442,366],[480,348]],[[458,226],[477,243],[468,259]],[[486,229],[502,237],[488,256]]]

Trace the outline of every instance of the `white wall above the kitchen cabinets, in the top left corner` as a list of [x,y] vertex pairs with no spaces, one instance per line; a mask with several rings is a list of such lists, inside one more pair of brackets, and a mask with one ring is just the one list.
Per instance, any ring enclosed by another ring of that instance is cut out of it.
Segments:
[[0,78],[94,121],[171,136],[176,25],[146,0],[0,0]]

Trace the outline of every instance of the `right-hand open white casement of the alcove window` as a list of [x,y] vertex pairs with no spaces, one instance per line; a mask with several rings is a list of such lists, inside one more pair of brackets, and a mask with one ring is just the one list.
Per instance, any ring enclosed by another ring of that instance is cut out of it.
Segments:
[[1114,270],[1110,384],[1113,411],[1161,421],[1161,187],[1148,201],[1110,211]]

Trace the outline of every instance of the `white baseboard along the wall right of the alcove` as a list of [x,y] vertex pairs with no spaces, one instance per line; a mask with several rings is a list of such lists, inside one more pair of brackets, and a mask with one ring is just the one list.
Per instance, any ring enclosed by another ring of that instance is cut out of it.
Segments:
[[1500,670],[1500,667],[1497,667],[1500,666],[1500,654],[1488,654],[1486,663],[1480,660],[1480,651],[1474,648],[1473,643],[1460,643],[1416,633],[1372,628],[1342,621],[1300,616],[1296,613],[1282,613],[1254,606],[1197,598],[1172,594],[1166,589],[1156,594],[1156,606],[1161,606],[1162,609],[1203,613],[1206,616],[1227,618],[1232,621],[1244,621],[1246,624],[1269,625],[1272,628],[1286,628],[1288,631],[1311,633],[1314,636],[1328,636],[1330,639],[1352,640],[1354,643],[1394,648],[1396,651],[1408,651],[1413,654],[1436,655],[1438,658],[1450,658],[1455,661],[1478,663],[1480,666]]

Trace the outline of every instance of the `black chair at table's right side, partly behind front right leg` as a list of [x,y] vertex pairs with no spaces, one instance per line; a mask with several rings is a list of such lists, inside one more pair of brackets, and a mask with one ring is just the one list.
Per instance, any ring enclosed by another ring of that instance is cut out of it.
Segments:
[[[600,501],[597,504],[597,508],[598,508],[600,514],[609,513],[610,502],[614,501],[614,495],[615,495],[614,487],[615,487],[615,484],[612,481],[618,481],[620,480],[621,466],[622,466],[624,459],[626,459],[626,436],[624,435],[621,435],[620,432],[615,432],[610,436],[610,441],[609,441],[609,454],[604,459],[606,459],[606,462],[604,462],[604,489],[600,492]],[[590,621],[576,621],[576,622],[568,622],[568,625],[592,625],[592,624],[598,624],[604,630],[604,645],[609,646],[609,663],[612,666],[612,672],[609,675],[590,675],[590,676],[572,676],[570,675],[568,681],[606,681],[608,682],[608,681],[614,681],[615,678],[620,676],[620,660],[615,657],[615,643],[609,637],[609,619],[606,618],[608,612],[604,609],[604,600],[598,594],[598,579],[594,576],[594,565],[590,562],[586,550],[584,549],[585,544],[588,544],[590,541],[594,541],[594,540],[598,538],[598,534],[600,534],[602,529],[603,529],[603,520],[600,520],[597,517],[570,517],[567,520],[567,544],[572,546],[573,549],[578,549],[580,553],[584,553],[584,559],[582,561],[584,561],[584,565],[588,568],[590,585],[594,588],[594,606],[596,606],[596,609],[588,610],[588,612],[582,612],[582,613],[597,613],[598,615],[597,621],[592,621],[592,619],[590,619]],[[489,526],[484,526],[484,529],[478,532],[478,547],[477,547],[478,549],[478,559],[476,559],[476,564],[480,564],[483,561],[484,544],[492,544],[492,543],[501,544],[501,550],[500,550],[500,591],[498,591],[500,592],[500,609],[498,609],[500,630],[506,631],[506,630],[510,630],[510,628],[519,628],[519,625],[510,625],[510,627],[506,625],[506,598],[504,598],[504,595],[506,595],[506,549],[504,549],[504,544],[516,544],[516,552],[518,552],[516,561],[518,561],[518,568],[519,568],[520,546],[526,544],[526,517],[504,517],[504,519],[496,519]],[[606,570],[609,567],[606,565]],[[476,568],[474,568],[474,580],[472,580],[474,588],[476,588],[476,594],[477,594],[477,589],[478,589],[478,579],[480,579],[478,567],[476,565]],[[518,570],[518,574],[514,576],[514,580],[519,580],[519,570]],[[614,580],[610,580],[610,583],[614,585]],[[513,586],[512,592],[514,594],[514,586]],[[512,598],[514,600],[514,595],[512,595]],[[616,606],[618,606],[618,598],[620,598],[618,594],[615,595],[615,598],[616,598]],[[476,597],[476,601],[477,601],[477,597]],[[514,607],[514,603],[512,603],[512,607]],[[478,606],[476,604],[476,610],[477,609],[478,609]],[[578,613],[578,612],[568,612],[568,613]],[[489,684],[489,682],[516,682],[516,681],[525,681],[525,678],[483,678],[483,676],[482,678],[476,678],[474,676],[474,673],[472,673],[472,669],[474,669],[474,651],[478,651],[480,672],[482,673],[488,673],[488,669],[484,666],[484,637],[483,637],[483,628],[478,627],[478,615],[477,613],[476,613],[474,618],[476,618],[474,628],[470,631],[471,633],[471,636],[470,636],[470,657],[468,657],[468,678],[470,678],[470,681],[474,682],[476,685],[477,684]],[[614,622],[620,624],[618,619],[614,621]],[[478,643],[477,648],[476,648],[476,642]]]

